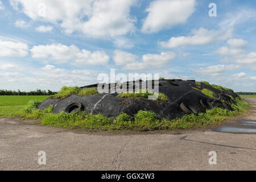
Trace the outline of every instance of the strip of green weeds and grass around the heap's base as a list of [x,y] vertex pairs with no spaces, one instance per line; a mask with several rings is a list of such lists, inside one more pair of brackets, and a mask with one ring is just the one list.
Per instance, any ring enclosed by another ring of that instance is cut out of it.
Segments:
[[236,118],[246,109],[251,106],[243,100],[236,100],[237,104],[232,105],[234,111],[215,107],[212,110],[207,110],[206,113],[184,115],[182,118],[167,120],[158,119],[152,111],[141,110],[131,118],[125,113],[119,114],[113,120],[105,117],[102,114],[85,114],[83,111],[72,113],[61,112],[53,114],[53,106],[44,110],[36,109],[38,101],[31,101],[22,110],[15,113],[17,117],[27,119],[40,119],[42,125],[81,128],[86,130],[126,130],[126,131],[145,131],[145,130],[176,130],[176,129],[191,129],[207,125],[215,125],[224,122],[228,119]]

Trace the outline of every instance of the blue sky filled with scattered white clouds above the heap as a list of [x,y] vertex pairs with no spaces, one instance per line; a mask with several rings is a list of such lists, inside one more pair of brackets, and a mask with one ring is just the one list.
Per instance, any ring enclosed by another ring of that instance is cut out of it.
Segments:
[[254,1],[1,0],[0,27],[0,89],[57,91],[115,69],[256,92]]

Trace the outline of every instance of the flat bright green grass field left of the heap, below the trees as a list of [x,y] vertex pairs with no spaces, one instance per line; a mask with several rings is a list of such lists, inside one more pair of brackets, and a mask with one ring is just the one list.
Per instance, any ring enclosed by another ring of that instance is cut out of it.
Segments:
[[13,116],[30,100],[44,101],[48,97],[50,96],[0,96],[0,117]]

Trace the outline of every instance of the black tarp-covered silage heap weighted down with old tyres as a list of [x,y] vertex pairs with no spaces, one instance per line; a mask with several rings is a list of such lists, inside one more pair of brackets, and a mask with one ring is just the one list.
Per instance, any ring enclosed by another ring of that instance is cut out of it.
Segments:
[[[148,81],[138,80],[137,86],[131,82],[123,82],[124,85],[131,86],[134,91],[147,85]],[[153,80],[154,82],[154,80]],[[96,88],[98,84],[84,86],[83,88]],[[114,84],[117,85],[117,84]],[[109,86],[105,84],[104,86]],[[119,85],[120,86],[120,85]],[[235,98],[239,96],[233,90],[212,86],[207,82],[195,82],[193,80],[159,80],[159,93],[168,97],[168,101],[148,100],[148,98],[122,98],[115,92],[115,86],[110,88],[109,93],[98,93],[91,96],[71,95],[67,98],[47,98],[39,109],[45,109],[53,105],[53,113],[66,111],[68,113],[83,110],[90,114],[104,114],[106,117],[115,118],[120,113],[126,113],[131,117],[139,110],[154,111],[159,119],[175,119],[185,114],[204,113],[206,109],[221,107],[232,110],[230,104],[235,103]],[[215,87],[215,88],[214,88]],[[211,95],[205,94],[213,93]]]

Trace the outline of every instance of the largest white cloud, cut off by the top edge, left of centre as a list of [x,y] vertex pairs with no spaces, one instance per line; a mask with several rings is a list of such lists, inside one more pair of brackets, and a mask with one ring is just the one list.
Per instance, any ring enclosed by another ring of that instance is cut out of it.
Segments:
[[[118,36],[135,30],[130,8],[137,0],[44,0],[46,14],[40,14],[41,0],[10,0],[14,10],[22,11],[32,20],[60,24],[67,34],[81,31],[88,36]],[[56,6],[58,8],[56,8]]]

